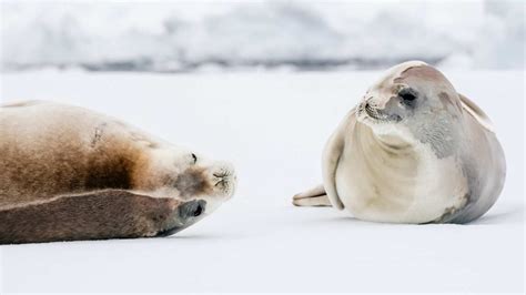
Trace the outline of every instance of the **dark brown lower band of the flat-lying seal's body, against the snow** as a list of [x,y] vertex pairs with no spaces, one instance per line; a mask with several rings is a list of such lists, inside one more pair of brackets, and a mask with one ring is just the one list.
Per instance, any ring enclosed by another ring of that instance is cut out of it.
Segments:
[[[0,244],[153,236],[174,228],[180,202],[125,191],[0,210]],[[184,227],[182,224],[180,227]]]

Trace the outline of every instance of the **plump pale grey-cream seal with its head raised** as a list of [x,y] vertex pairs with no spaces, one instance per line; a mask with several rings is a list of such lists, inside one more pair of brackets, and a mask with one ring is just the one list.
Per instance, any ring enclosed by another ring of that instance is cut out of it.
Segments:
[[467,223],[496,202],[503,149],[487,115],[424,62],[387,71],[351,110],[323,154],[323,184],[295,205],[360,220]]

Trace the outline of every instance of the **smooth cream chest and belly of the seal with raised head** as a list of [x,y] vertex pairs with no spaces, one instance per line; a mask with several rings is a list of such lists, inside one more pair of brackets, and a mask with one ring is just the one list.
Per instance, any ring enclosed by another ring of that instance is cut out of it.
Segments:
[[465,204],[467,185],[453,156],[437,159],[428,146],[385,145],[366,126],[346,144],[336,172],[345,207],[357,218],[426,223]]

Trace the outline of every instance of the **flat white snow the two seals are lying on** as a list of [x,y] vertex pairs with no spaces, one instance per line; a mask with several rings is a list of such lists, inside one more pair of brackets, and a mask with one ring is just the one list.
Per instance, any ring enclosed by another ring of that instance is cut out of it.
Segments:
[[83,105],[232,161],[239,191],[168,238],[2,246],[0,292],[524,292],[524,72],[445,74],[492,118],[508,163],[500,199],[468,225],[292,206],[378,72],[3,74],[4,101]]

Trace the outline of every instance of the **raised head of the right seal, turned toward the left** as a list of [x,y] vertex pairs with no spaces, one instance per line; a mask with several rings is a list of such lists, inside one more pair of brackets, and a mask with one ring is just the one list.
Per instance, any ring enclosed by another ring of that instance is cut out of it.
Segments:
[[423,62],[391,69],[364,95],[356,120],[388,141],[429,144],[438,159],[452,155],[458,144],[463,109],[451,82]]

